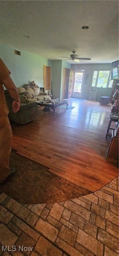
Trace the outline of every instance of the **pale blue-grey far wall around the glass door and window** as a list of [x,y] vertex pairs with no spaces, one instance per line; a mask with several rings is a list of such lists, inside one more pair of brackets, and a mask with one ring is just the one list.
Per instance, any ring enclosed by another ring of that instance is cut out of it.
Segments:
[[[88,99],[91,87],[93,70],[111,70],[111,63],[104,64],[71,64],[73,70],[85,70],[84,83],[82,88],[82,99]],[[101,96],[111,95],[112,88],[97,88],[96,100],[99,101]]]

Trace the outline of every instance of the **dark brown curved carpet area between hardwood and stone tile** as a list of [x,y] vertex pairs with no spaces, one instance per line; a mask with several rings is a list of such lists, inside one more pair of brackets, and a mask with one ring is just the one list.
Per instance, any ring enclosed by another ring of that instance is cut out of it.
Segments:
[[10,166],[16,167],[16,173],[0,186],[0,192],[22,204],[62,202],[92,193],[16,153],[11,153]]

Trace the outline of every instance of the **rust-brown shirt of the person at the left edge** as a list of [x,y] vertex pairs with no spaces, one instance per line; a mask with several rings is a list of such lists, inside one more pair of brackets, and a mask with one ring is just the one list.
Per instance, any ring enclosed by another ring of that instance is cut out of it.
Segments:
[[5,100],[3,81],[11,72],[8,70],[4,62],[0,59],[0,116],[8,115],[9,109]]

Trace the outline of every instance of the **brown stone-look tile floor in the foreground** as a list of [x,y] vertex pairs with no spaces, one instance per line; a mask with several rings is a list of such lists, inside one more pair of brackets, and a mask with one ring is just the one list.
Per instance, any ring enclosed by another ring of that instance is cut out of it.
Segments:
[[[21,205],[2,193],[0,255],[117,256],[118,206],[118,178],[93,194],[55,204]],[[16,251],[3,252],[2,245]]]

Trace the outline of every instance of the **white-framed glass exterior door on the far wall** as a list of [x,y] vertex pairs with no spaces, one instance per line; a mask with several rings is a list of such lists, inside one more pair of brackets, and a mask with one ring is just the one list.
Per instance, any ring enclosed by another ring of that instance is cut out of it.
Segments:
[[81,70],[74,71],[73,87],[72,87],[72,95],[71,95],[71,97],[73,97],[73,98],[81,98],[82,97],[84,72],[85,71],[81,71]]

